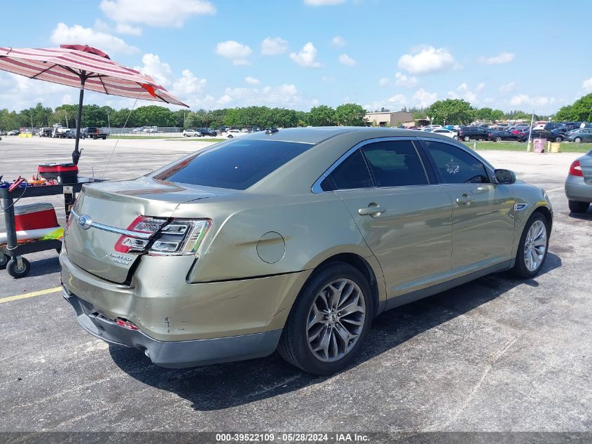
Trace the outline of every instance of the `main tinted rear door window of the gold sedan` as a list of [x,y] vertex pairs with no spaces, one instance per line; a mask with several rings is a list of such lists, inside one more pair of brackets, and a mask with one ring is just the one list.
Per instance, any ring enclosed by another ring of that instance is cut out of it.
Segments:
[[420,156],[411,140],[385,140],[362,147],[376,187],[427,185]]

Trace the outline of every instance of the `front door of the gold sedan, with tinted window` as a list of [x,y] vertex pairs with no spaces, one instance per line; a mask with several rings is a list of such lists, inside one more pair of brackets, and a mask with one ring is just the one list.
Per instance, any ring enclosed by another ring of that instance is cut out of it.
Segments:
[[493,183],[491,168],[468,149],[427,138],[422,142],[453,203],[453,274],[509,260],[515,203],[509,186]]

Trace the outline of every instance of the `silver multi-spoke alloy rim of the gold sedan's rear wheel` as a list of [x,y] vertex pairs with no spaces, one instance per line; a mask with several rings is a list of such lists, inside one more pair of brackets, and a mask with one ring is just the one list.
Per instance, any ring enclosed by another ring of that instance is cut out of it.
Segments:
[[359,339],[366,318],[362,290],[350,279],[326,285],[312,301],[306,330],[308,347],[322,362],[339,361]]

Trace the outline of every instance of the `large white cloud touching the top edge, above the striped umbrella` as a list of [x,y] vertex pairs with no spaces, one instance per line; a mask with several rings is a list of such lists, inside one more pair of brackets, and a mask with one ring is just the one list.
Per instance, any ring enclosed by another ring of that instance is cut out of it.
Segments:
[[114,22],[156,27],[182,27],[193,15],[216,13],[205,0],[102,0],[99,7]]

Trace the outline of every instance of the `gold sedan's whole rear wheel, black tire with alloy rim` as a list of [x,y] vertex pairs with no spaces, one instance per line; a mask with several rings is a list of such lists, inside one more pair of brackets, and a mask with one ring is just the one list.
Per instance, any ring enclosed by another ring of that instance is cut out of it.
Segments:
[[[335,293],[329,297],[329,291]],[[341,300],[343,291],[349,295]],[[343,315],[344,307],[351,307],[350,313]],[[329,264],[315,271],[298,294],[277,351],[313,375],[339,372],[363,347],[372,323],[372,307],[365,276],[350,264]]]

